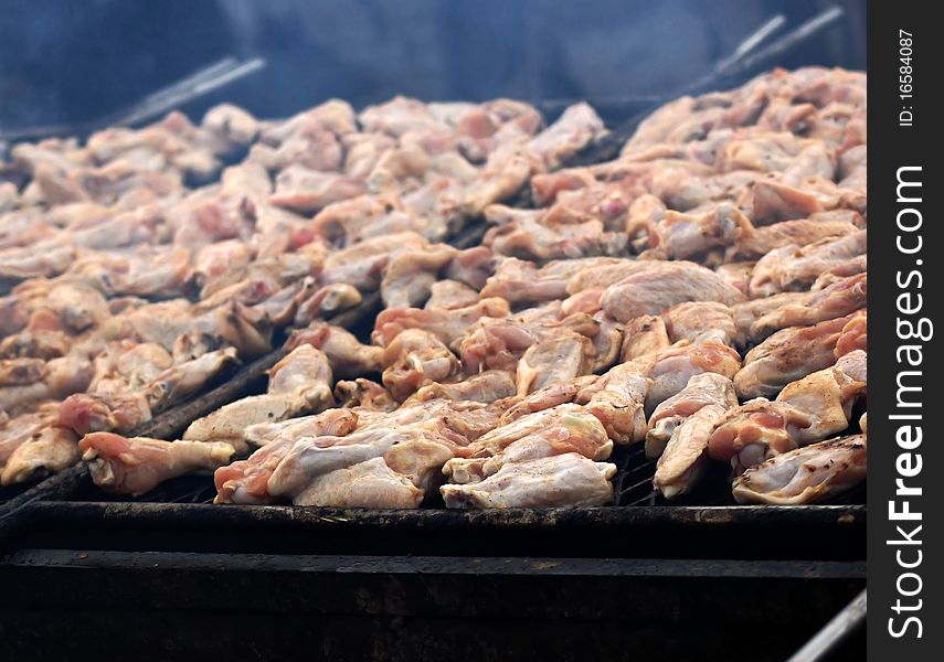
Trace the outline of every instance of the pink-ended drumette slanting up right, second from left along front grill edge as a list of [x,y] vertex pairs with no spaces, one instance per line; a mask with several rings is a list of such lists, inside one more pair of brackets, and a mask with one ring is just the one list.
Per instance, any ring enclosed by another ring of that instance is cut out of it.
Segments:
[[[276,431],[271,424],[252,426],[246,430],[251,439],[265,435],[267,442],[245,460],[220,467],[213,474],[216,485],[214,503],[271,503],[268,479],[300,438],[320,436],[343,437],[354,430],[358,415],[351,409],[328,409],[315,416],[284,421]],[[274,434],[273,434],[274,433]]]

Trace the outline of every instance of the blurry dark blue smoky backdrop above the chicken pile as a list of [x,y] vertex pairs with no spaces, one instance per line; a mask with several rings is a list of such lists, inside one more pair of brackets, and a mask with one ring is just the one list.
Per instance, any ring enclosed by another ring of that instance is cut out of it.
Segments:
[[114,113],[221,57],[267,67],[221,100],[264,117],[329,97],[613,99],[669,94],[776,12],[847,15],[779,64],[865,68],[855,0],[4,0],[0,130]]

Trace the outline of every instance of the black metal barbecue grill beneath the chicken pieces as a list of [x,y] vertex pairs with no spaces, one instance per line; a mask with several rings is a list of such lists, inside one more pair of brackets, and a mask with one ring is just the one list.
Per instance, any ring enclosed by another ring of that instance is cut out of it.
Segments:
[[[701,84],[744,72],[720,74]],[[577,161],[612,157],[664,100],[594,104],[622,126]],[[484,233],[473,223],[449,241],[465,248]],[[364,338],[379,307],[374,295],[329,321]],[[170,439],[263,392],[283,355],[134,434]],[[613,505],[502,511],[221,506],[205,476],[131,499],[100,492],[78,465],[0,491],[0,649],[38,660],[784,660],[865,587],[865,485],[825,505],[744,506],[714,466],[669,505],[641,445],[611,461]],[[834,659],[860,659],[863,644]]]

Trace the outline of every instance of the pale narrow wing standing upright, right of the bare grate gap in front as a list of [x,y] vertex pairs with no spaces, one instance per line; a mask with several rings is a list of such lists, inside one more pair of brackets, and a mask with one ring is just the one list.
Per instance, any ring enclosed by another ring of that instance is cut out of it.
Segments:
[[701,480],[708,463],[708,440],[726,409],[706,405],[673,428],[653,478],[653,485],[662,496],[681,496]]

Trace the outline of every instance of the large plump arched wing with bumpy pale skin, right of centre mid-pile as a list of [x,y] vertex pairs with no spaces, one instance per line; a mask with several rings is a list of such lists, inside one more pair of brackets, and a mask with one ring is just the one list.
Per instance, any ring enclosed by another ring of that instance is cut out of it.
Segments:
[[711,269],[692,263],[657,263],[611,285],[603,292],[603,310],[627,322],[643,314],[659,314],[685,301],[719,301],[728,306],[744,296]]

